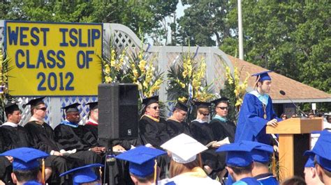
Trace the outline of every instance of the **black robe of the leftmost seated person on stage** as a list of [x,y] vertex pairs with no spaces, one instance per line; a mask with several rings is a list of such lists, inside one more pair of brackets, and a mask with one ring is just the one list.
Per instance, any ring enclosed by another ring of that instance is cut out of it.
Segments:
[[34,147],[27,130],[20,125],[17,127],[2,125],[0,134],[3,138],[1,153],[17,147]]

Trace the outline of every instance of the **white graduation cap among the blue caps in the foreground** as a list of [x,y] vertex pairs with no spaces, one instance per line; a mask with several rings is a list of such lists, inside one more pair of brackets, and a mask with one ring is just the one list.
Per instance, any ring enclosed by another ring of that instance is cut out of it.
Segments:
[[171,152],[172,160],[177,163],[189,163],[196,160],[196,155],[207,150],[205,145],[186,134],[179,134],[165,142],[161,147]]

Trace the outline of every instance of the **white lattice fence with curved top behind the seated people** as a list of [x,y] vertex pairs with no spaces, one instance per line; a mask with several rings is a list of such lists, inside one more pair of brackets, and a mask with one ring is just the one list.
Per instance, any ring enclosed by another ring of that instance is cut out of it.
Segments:
[[[0,44],[3,46],[3,31],[4,31],[4,21],[0,20]],[[144,51],[147,49],[148,45],[142,44],[141,40],[138,38],[131,29],[128,29],[127,26],[122,24],[103,24],[104,29],[104,38],[110,38],[110,35],[114,37],[114,44],[116,47],[123,48],[127,47],[130,51],[134,52],[137,49],[142,49]],[[104,47],[105,48],[105,47]],[[168,72],[169,65],[178,58],[182,52],[196,51],[196,47],[173,47],[173,46],[150,46],[148,49],[149,57],[157,58],[157,65],[159,65],[159,70],[164,72],[165,75]],[[228,56],[215,47],[199,47],[198,58],[205,58],[207,64],[207,82],[214,84],[214,91],[219,93],[219,90],[223,87],[224,78],[225,78],[225,66],[230,67],[230,70],[233,72],[233,65],[230,62]],[[166,100],[165,95],[165,83],[161,86],[159,91],[160,99]],[[29,99],[34,97],[19,97],[20,107],[22,108],[23,104],[26,104]],[[47,105],[47,117],[45,121],[49,123],[53,128],[63,120],[63,114],[61,113],[61,107],[73,102],[78,102],[82,104],[80,106],[80,115],[82,117],[82,123],[87,120],[87,113],[89,112],[88,106],[85,106],[87,102],[94,102],[97,100],[97,97],[46,97],[45,104]],[[29,107],[22,108],[22,123],[26,123],[29,120],[30,113]]]

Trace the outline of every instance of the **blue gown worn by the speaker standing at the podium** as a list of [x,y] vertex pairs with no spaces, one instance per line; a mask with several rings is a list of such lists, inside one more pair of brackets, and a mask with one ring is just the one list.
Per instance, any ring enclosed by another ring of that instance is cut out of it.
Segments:
[[264,119],[263,104],[258,97],[251,93],[247,93],[244,96],[244,102],[240,108],[237,129],[235,131],[235,143],[241,140],[252,140],[270,145],[271,136],[265,133],[267,122],[274,118],[278,121],[281,119],[277,118],[277,115],[274,113],[270,97],[267,101],[268,103],[265,108],[267,118]]

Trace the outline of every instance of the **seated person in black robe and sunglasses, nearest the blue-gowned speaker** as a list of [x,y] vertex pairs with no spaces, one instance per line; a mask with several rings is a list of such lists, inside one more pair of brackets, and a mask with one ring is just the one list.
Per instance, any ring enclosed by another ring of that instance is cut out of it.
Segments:
[[235,141],[236,125],[226,118],[228,115],[228,98],[221,97],[215,99],[212,103],[215,105],[216,115],[209,122],[209,125],[212,128],[214,140],[223,140],[228,137],[230,143],[233,143]]

